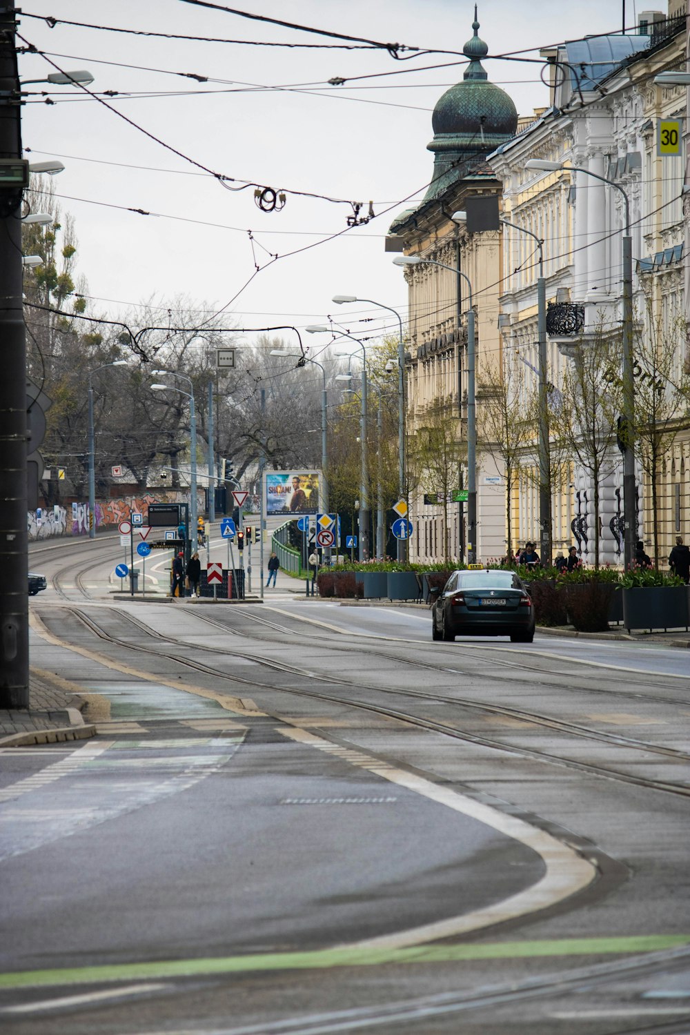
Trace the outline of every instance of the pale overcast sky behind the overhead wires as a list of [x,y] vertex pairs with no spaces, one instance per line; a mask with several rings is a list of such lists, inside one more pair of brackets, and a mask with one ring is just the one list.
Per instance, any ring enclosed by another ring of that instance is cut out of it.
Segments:
[[[353,333],[394,330],[394,318],[381,308],[331,299],[373,299],[406,319],[402,271],[384,239],[430,179],[431,114],[462,78],[464,64],[447,65],[462,60],[474,3],[235,2],[244,12],[300,26],[457,53],[404,51],[395,60],[385,50],[334,48],[342,41],[184,0],[27,0],[18,42],[40,53],[20,56],[21,79],[88,69],[88,89],[110,106],[79,87],[33,84],[26,89],[46,90],[55,103],[30,94],[23,109],[26,156],[59,157],[65,166],[54,185],[74,218],[77,273],[88,282],[92,312],[119,319],[151,302],[164,312],[184,297],[209,316],[222,309],[223,326],[246,328],[236,335],[240,344],[257,337],[249,328],[302,329],[329,315]],[[650,6],[663,5],[637,3],[635,11],[628,0],[628,24]],[[536,59],[542,47],[619,31],[621,7],[621,0],[480,0],[479,35],[489,56]],[[104,28],[51,27],[50,16]],[[115,28],[311,46],[158,38]],[[547,105],[538,62],[487,59],[484,66],[520,115]],[[329,85],[335,77],[348,82]],[[233,182],[223,185],[214,173]],[[284,190],[284,206],[261,211],[253,184]],[[348,230],[350,202],[362,203],[362,216],[369,201],[374,218]]]

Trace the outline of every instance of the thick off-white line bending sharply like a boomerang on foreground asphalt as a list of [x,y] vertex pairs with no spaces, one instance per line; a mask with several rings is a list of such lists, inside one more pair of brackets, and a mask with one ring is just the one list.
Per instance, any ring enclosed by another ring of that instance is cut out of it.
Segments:
[[[587,888],[596,878],[597,868],[589,860],[583,859],[563,841],[557,840],[551,834],[531,826],[515,816],[507,816],[496,808],[468,798],[466,795],[450,788],[432,783],[415,773],[396,769],[394,766],[381,762],[362,751],[351,751],[330,741],[317,737],[312,733],[299,728],[278,728],[278,732],[300,744],[316,747],[327,755],[335,755],[346,762],[360,766],[383,779],[390,780],[398,787],[406,787],[415,794],[423,795],[430,801],[446,805],[470,819],[477,820],[485,826],[498,830],[506,837],[511,837],[527,846],[541,856],[546,868],[544,876],[531,888],[519,891],[509,898],[494,903],[474,913],[450,917],[433,923],[422,924],[408,930],[399,930],[393,935],[383,935],[368,938],[351,946],[339,948],[403,948],[419,945],[423,942],[437,941],[440,938],[457,938],[471,930],[479,930],[494,923],[514,920],[539,910],[547,909],[557,903],[576,894]],[[335,749],[334,749],[335,748]]]

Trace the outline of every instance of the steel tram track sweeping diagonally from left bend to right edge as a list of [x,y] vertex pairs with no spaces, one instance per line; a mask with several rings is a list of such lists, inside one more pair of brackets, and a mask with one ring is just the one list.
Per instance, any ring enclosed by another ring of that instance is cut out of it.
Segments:
[[[184,668],[190,669],[192,671],[199,672],[201,674],[212,677],[213,679],[220,679],[223,681],[232,683],[241,683],[243,685],[250,686],[254,689],[265,689],[270,692],[284,692],[295,694],[297,697],[308,698],[312,700],[322,700],[329,702],[331,704],[344,706],[348,708],[356,708],[360,711],[367,711],[372,714],[379,714],[386,716],[388,718],[397,719],[399,721],[406,722],[408,724],[416,726],[420,729],[427,730],[429,732],[441,733],[446,736],[452,737],[453,739],[473,743],[475,745],[488,747],[493,750],[508,752],[513,756],[517,756],[522,759],[529,759],[531,761],[538,761],[541,763],[547,763],[551,765],[558,765],[561,767],[566,767],[569,769],[575,769],[579,772],[587,773],[592,776],[605,777],[608,779],[614,779],[623,781],[626,783],[633,783],[638,787],[646,788],[648,790],[662,791],[664,793],[669,793],[678,795],[681,797],[690,797],[690,788],[683,786],[683,783],[674,783],[665,779],[655,779],[652,777],[638,776],[635,773],[624,772],[620,769],[610,768],[609,766],[603,766],[598,764],[593,764],[591,762],[581,762],[577,759],[566,758],[563,756],[554,755],[550,751],[538,750],[535,748],[526,747],[523,745],[516,745],[510,743],[506,740],[499,740],[494,737],[480,735],[477,733],[471,733],[468,730],[462,730],[457,726],[451,724],[445,721],[439,721],[438,719],[432,719],[428,717],[421,716],[419,714],[413,714],[412,712],[401,710],[399,708],[385,706],[383,704],[377,704],[372,701],[366,701],[361,699],[355,699],[352,696],[338,696],[337,693],[327,693],[325,690],[317,689],[316,687],[309,687],[308,689],[299,687],[276,687],[270,683],[261,682],[256,678],[249,679],[240,676],[236,673],[223,672],[221,669],[215,668],[210,664],[206,664],[203,661],[196,660],[188,657],[180,657],[178,651],[175,653],[164,653],[153,646],[146,644],[136,644],[131,640],[122,638],[121,635],[113,635],[96,621],[79,611],[79,609],[71,609],[72,614],[96,637],[103,640],[104,642],[111,643],[115,646],[124,648],[125,650],[134,650],[138,652],[153,655],[155,657],[164,657],[170,661],[178,663]],[[162,634],[150,630],[143,623],[133,619],[131,616],[119,614],[120,618],[128,620],[130,624],[134,625],[140,631],[144,632],[146,635],[158,641],[159,643],[170,644],[171,646],[184,647],[185,650],[189,649],[189,643],[180,640],[175,637],[168,634]],[[402,698],[414,698],[418,701],[422,701],[427,704],[447,704],[454,707],[459,707],[466,711],[470,711],[473,714],[483,713],[492,714],[494,716],[503,716],[510,718],[512,720],[517,720],[522,723],[529,723],[538,729],[547,729],[550,732],[556,732],[564,737],[573,738],[576,741],[590,741],[597,743],[605,743],[610,746],[612,750],[625,750],[627,752],[643,752],[644,761],[649,761],[650,757],[658,757],[659,759],[664,759],[666,761],[672,760],[679,764],[686,764],[690,761],[690,755],[684,751],[678,751],[674,748],[661,747],[659,745],[651,744],[643,741],[638,741],[633,738],[623,737],[617,734],[609,734],[599,730],[593,730],[588,727],[575,726],[573,723],[564,722],[560,719],[553,719],[549,716],[537,715],[534,713],[529,713],[520,711],[518,709],[511,709],[500,705],[488,705],[485,703],[478,703],[476,701],[471,701],[467,699],[458,699],[445,694],[420,692],[417,690],[404,689],[404,688],[390,688],[382,687],[376,685],[367,685],[362,683],[355,683],[343,679],[342,677],[328,676],[327,674],[320,674],[309,672],[304,669],[299,669],[294,666],[289,666],[281,661],[276,661],[272,658],[262,658],[257,656],[256,653],[249,653],[246,651],[239,650],[228,650],[224,648],[214,648],[205,647],[203,645],[194,645],[194,651],[204,651],[205,653],[211,653],[216,656],[221,655],[223,657],[236,657],[240,660],[251,661],[263,666],[264,668],[270,669],[274,672],[283,673],[286,675],[297,676],[301,679],[306,679],[308,681],[314,681],[320,683],[328,683],[334,687],[343,687],[348,691],[354,691],[361,693],[363,691],[369,691],[371,693],[384,694],[384,696],[395,696]],[[276,718],[280,716],[276,715]],[[685,770],[684,770],[685,771]]]

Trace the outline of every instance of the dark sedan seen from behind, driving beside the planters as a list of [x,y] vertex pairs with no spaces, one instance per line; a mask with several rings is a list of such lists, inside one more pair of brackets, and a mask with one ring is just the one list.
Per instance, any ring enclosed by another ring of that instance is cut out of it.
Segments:
[[534,640],[534,605],[513,571],[453,571],[442,590],[430,592],[432,640],[456,635],[509,635],[513,643]]

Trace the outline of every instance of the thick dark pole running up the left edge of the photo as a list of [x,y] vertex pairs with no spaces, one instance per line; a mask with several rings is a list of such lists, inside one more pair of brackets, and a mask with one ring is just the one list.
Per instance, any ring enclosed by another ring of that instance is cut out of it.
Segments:
[[[26,337],[16,10],[0,8],[0,708],[29,706]],[[39,477],[42,472],[39,472]]]

